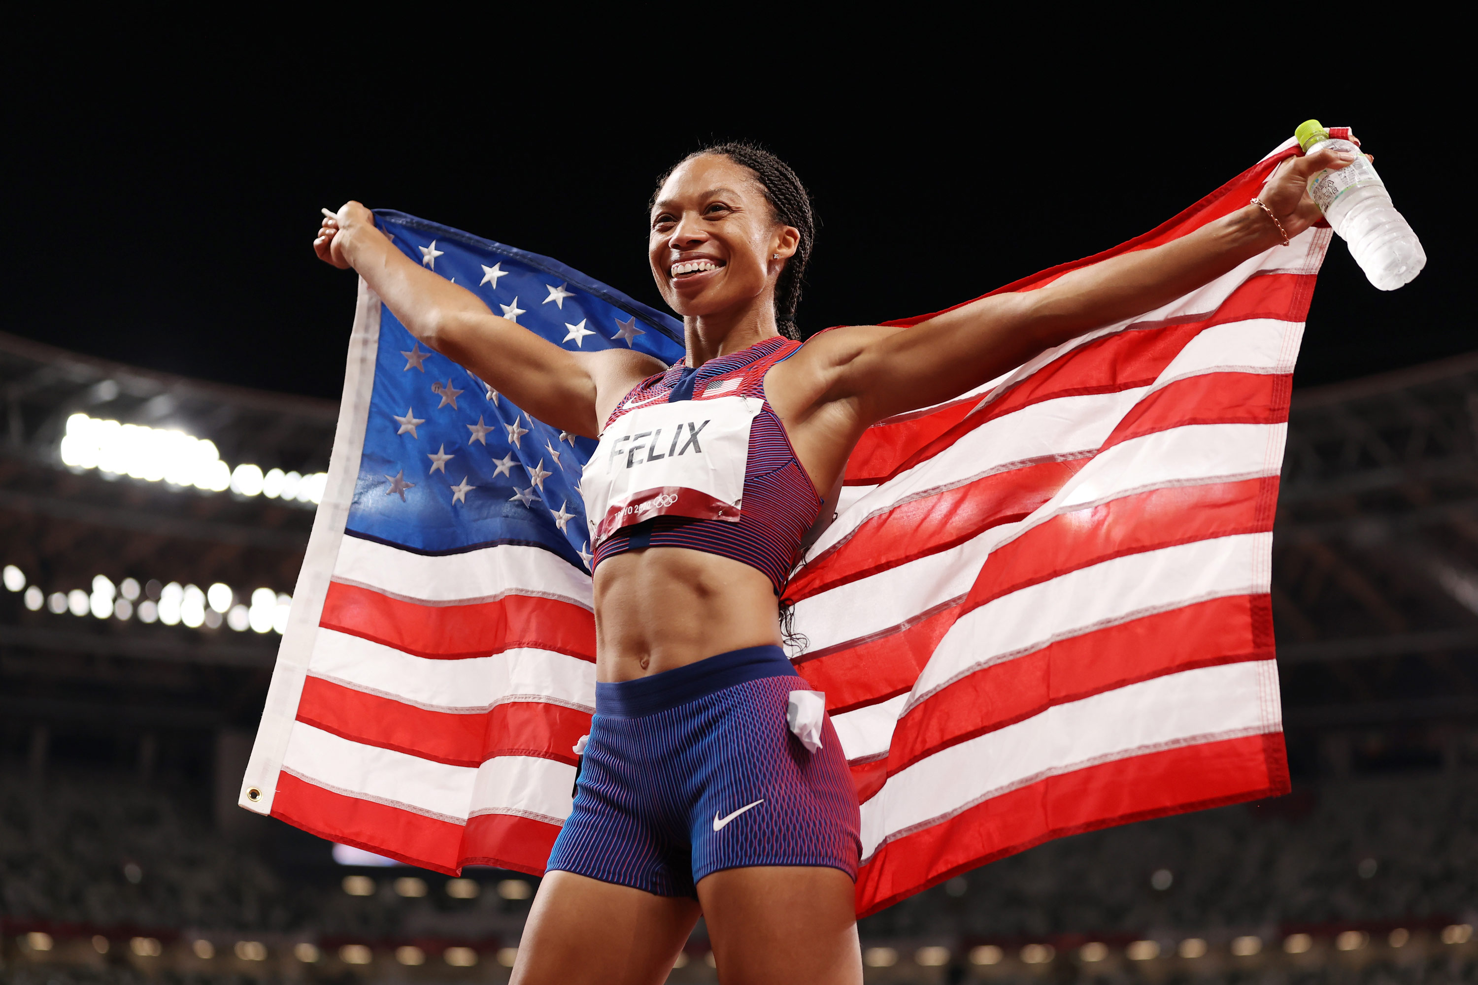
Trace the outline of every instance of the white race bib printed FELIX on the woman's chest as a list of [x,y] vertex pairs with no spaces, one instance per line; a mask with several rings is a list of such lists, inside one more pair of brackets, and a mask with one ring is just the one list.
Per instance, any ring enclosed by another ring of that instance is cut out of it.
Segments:
[[661,515],[738,523],[758,397],[653,403],[600,436],[581,493],[591,546]]

